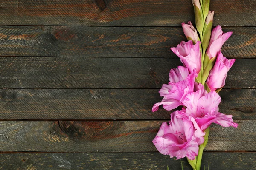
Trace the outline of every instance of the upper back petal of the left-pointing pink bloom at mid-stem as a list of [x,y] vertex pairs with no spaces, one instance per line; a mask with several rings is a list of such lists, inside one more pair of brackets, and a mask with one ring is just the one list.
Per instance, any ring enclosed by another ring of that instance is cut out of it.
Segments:
[[183,66],[178,66],[178,68],[171,69],[169,73],[169,81],[171,84],[174,84],[176,82],[180,82],[189,75],[188,68],[185,68]]

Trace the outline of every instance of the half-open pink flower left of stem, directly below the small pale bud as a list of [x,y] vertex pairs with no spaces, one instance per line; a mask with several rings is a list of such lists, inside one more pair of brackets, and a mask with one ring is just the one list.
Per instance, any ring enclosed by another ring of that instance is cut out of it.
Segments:
[[201,68],[201,52],[200,52],[200,41],[197,41],[195,45],[190,40],[188,42],[182,41],[177,47],[171,48],[171,50],[180,57],[180,61],[183,65],[189,69],[189,73],[195,69],[198,74]]

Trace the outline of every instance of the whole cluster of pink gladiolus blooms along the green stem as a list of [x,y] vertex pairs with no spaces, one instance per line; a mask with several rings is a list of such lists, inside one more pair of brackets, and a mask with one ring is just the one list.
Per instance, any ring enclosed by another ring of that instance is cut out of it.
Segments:
[[198,146],[204,142],[204,130],[212,123],[223,127],[238,126],[233,122],[231,115],[219,112],[221,97],[215,92],[225,85],[227,72],[235,59],[227,59],[221,54],[221,46],[232,32],[223,34],[221,27],[217,26],[212,30],[206,51],[209,59],[216,57],[215,65],[206,81],[210,89],[208,93],[204,85],[195,82],[202,66],[201,42],[197,40],[191,23],[183,23],[182,26],[187,37],[195,37],[195,44],[193,45],[192,40],[182,41],[176,48],[171,48],[180,57],[184,67],[171,69],[169,83],[164,84],[159,91],[163,100],[154,104],[152,111],[157,111],[160,105],[168,111],[178,106],[183,108],[171,114],[169,124],[167,122],[162,124],[153,143],[164,155],[175,156],[177,159],[188,157],[193,160],[198,155]]

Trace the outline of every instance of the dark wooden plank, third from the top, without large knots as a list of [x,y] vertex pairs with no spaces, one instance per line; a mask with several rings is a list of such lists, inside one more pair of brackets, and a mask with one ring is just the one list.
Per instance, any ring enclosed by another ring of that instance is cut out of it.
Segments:
[[[237,59],[226,88],[255,88],[256,59]],[[160,88],[180,59],[2,57],[0,88]]]

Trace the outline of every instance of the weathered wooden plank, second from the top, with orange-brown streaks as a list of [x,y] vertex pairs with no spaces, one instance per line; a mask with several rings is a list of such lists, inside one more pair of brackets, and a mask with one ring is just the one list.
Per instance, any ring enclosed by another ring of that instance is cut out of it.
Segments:
[[[222,53],[256,57],[256,28],[223,28],[233,35]],[[0,26],[1,56],[177,58],[170,47],[186,40],[182,28]]]

